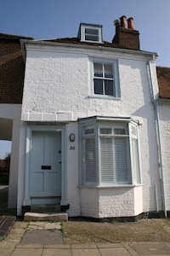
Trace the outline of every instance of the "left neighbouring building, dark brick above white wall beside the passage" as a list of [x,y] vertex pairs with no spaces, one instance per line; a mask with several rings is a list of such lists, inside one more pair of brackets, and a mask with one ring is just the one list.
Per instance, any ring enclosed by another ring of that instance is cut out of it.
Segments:
[[25,71],[20,38],[25,37],[0,33],[0,138],[12,141],[9,208],[17,207],[18,193],[20,113]]

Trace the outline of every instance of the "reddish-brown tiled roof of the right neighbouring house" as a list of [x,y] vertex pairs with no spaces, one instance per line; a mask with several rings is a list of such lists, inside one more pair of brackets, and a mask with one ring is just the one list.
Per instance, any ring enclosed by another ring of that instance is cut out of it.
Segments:
[[159,96],[170,99],[170,67],[156,67]]

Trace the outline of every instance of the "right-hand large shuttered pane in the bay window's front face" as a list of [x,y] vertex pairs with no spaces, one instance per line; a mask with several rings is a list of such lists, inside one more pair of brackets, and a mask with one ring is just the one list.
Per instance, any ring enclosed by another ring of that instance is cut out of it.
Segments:
[[128,184],[129,181],[129,158],[127,154],[127,138],[115,138],[115,167],[116,183]]

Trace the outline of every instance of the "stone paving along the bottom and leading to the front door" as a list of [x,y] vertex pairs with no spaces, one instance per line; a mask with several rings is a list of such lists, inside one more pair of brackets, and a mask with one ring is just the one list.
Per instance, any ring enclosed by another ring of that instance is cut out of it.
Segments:
[[170,241],[65,244],[61,223],[13,220],[9,224],[9,218],[11,217],[0,216],[1,234],[6,231],[6,235],[1,236],[3,240],[0,241],[0,256],[170,255]]

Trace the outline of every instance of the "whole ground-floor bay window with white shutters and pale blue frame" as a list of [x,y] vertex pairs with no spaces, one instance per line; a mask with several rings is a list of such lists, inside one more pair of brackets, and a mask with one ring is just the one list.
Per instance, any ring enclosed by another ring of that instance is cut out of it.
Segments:
[[130,119],[81,122],[81,184],[141,183],[138,125]]

